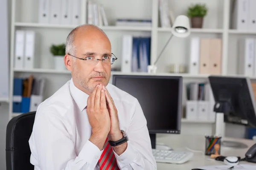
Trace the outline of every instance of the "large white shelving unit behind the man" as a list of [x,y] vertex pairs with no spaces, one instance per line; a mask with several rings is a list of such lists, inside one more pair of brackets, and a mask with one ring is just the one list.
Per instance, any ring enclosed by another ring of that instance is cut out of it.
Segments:
[[[122,35],[132,34],[134,36],[151,36],[151,59],[154,62],[165,43],[171,36],[171,28],[161,28],[158,18],[158,0],[94,0],[102,3],[108,18],[110,26],[102,26],[103,31],[108,35],[112,52],[118,60],[113,68],[121,67],[122,60]],[[201,29],[192,28],[190,36],[199,37],[218,37],[222,39],[222,75],[236,75],[237,54],[233,55],[233,39],[240,36],[256,36],[256,31],[237,31],[230,28],[230,3],[232,0],[169,0],[169,9],[173,10],[175,15],[186,14],[188,6],[195,3],[206,3],[209,8],[207,16],[204,18],[204,26]],[[52,55],[49,52],[49,46],[53,43],[63,43],[67,34],[76,26],[73,25],[52,25],[38,23],[38,0],[12,0],[12,23],[11,23],[11,51],[10,51],[10,98],[9,98],[9,119],[19,113],[12,113],[12,90],[14,77],[28,77],[33,74],[35,77],[46,77],[47,85],[44,99],[51,96],[67,80],[71,78],[70,71],[56,71],[52,69]],[[81,0],[81,24],[86,23],[87,1]],[[115,26],[117,18],[151,18],[151,27],[128,27]],[[34,69],[15,69],[14,68],[14,44],[15,30],[35,30],[39,36],[39,51],[35,57],[41,59],[41,67]],[[231,37],[231,39],[230,39]],[[235,38],[234,38],[235,37]],[[232,45],[230,45],[232,44]],[[236,44],[235,44],[236,45]],[[207,81],[209,75],[191,75],[191,74],[172,74],[169,73],[170,64],[188,65],[189,60],[189,37],[174,37],[169,43],[168,48],[163,52],[161,59],[157,63],[157,75],[182,76],[183,82],[189,81]],[[232,55],[232,56],[231,56]],[[122,73],[113,71],[112,74],[147,74],[147,73]],[[255,77],[251,77],[255,79]],[[1,99],[0,99],[1,101]],[[183,103],[184,105],[184,103]],[[183,123],[204,123],[212,125],[211,121],[190,121],[182,119]]]

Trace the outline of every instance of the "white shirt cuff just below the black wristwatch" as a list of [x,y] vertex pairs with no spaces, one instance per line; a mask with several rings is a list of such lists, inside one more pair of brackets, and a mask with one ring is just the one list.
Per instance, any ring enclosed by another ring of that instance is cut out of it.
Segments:
[[113,153],[115,154],[116,161],[119,164],[119,167],[125,167],[128,164],[131,164],[134,159],[136,159],[137,154],[133,150],[133,148],[130,146],[129,141],[127,142],[127,148],[124,153],[121,155],[117,155],[116,152],[113,150]]

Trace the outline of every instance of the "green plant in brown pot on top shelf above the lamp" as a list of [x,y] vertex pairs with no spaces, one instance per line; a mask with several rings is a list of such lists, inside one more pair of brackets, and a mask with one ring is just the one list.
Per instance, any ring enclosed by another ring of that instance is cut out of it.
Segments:
[[202,28],[204,17],[207,15],[208,8],[205,4],[195,4],[188,8],[187,16],[191,20],[192,28]]

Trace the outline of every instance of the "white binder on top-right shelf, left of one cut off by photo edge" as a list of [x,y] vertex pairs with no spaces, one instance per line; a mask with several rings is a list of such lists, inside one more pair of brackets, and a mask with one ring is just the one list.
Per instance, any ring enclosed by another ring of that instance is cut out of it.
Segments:
[[247,30],[249,23],[249,0],[236,0],[233,12],[233,29]]

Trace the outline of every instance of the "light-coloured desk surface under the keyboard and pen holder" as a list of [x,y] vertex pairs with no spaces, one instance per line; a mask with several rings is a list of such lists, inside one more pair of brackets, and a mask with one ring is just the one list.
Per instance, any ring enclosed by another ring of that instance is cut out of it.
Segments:
[[[230,147],[221,146],[221,155],[223,156],[241,156],[244,158],[247,150],[254,144],[253,140],[250,139],[236,139],[236,138],[222,138],[223,140],[228,141],[236,141],[247,144],[247,148],[235,149]],[[188,147],[192,150],[205,150],[205,138],[204,136],[188,136],[188,135],[178,135],[178,134],[157,134],[157,143],[164,143],[174,150],[183,150],[189,151],[185,149]],[[157,170],[191,170],[192,168],[209,166],[209,165],[223,165],[223,162],[208,160],[210,156],[205,156],[202,153],[194,153],[194,157],[187,161],[184,164],[167,164],[167,163],[157,163]],[[241,164],[253,164],[247,161],[242,161]],[[256,164],[255,164],[256,165]]]

